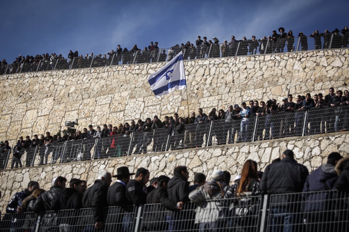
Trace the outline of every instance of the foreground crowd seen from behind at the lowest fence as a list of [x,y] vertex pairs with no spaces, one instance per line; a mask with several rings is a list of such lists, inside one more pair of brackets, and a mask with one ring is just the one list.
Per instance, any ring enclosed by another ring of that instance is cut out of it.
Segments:
[[[291,150],[285,150],[281,158],[274,160],[265,168],[264,173],[258,171],[257,162],[246,160],[241,174],[234,178],[232,185],[230,185],[229,170],[214,170],[209,181],[206,181],[203,173],[195,173],[193,185],[190,185],[188,182],[190,173],[185,166],[174,168],[172,178],[155,174],[148,186],[150,173],[146,168],[139,168],[136,173],[130,173],[125,166],[117,168],[117,175],[101,171],[94,184],[88,188],[86,181],[77,178],[71,179],[69,188],[66,188],[67,180],[63,176],[54,178],[51,189],[46,191],[39,188],[38,182],[30,181],[27,189],[14,194],[8,202],[3,223],[7,223],[7,228],[9,226],[14,229],[21,228],[24,225],[28,226],[28,223],[25,223],[27,220],[23,218],[18,220],[22,212],[40,213],[49,210],[91,208],[93,223],[88,222],[87,215],[80,215],[82,217],[78,222],[74,211],[70,211],[69,215],[60,220],[52,220],[53,215],[46,216],[41,223],[48,228],[59,226],[61,230],[65,227],[62,231],[70,231],[69,226],[80,225],[83,231],[104,228],[104,231],[129,232],[133,231],[135,217],[134,211],[130,210],[129,206],[160,203],[169,211],[151,207],[150,209],[154,210],[152,214],[143,216],[143,220],[147,223],[142,224],[142,231],[178,231],[195,228],[199,231],[217,231],[236,225],[245,226],[247,231],[254,231],[252,226],[256,225],[259,213],[255,211],[247,214],[246,211],[252,210],[253,196],[265,194],[279,194],[270,202],[273,205],[271,213],[275,214],[275,218],[271,220],[272,231],[295,231],[297,223],[304,224],[306,231],[318,231],[320,228],[317,227],[317,223],[320,221],[345,222],[346,214],[343,212],[336,217],[323,217],[326,213],[324,210],[327,209],[325,207],[327,200],[333,200],[336,196],[318,191],[349,190],[348,157],[343,158],[339,153],[333,152],[328,155],[326,163],[309,175],[309,170],[297,163],[294,155]],[[133,175],[134,178],[131,179]],[[113,184],[112,177],[117,177]],[[304,204],[302,211],[296,212],[298,208],[285,207],[287,204],[295,203],[296,198],[282,194],[300,192],[307,192],[302,195]],[[219,201],[220,199],[233,199],[234,203],[229,206],[226,202]],[[190,218],[191,214],[180,213],[190,201],[196,205],[193,218]],[[111,211],[104,210],[110,206],[118,208]],[[225,210],[227,208],[229,210]],[[146,209],[144,208],[143,213]],[[109,223],[110,226],[111,223],[107,219],[107,212],[113,214],[109,220],[112,219],[113,223],[118,224],[117,230],[116,227],[113,227],[114,230],[106,228],[105,224]],[[252,213],[254,217],[251,217]],[[297,217],[295,213],[302,216]],[[244,217],[249,219],[244,220]],[[192,224],[188,223],[191,219],[194,221]]]

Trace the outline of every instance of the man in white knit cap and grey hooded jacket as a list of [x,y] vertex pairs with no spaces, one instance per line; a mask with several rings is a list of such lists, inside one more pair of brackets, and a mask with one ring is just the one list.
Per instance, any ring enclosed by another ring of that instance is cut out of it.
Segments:
[[214,170],[212,181],[205,183],[189,194],[189,199],[198,205],[195,212],[195,224],[199,224],[200,231],[216,231],[224,226],[223,201],[208,201],[222,199],[229,189],[224,182],[222,170]]

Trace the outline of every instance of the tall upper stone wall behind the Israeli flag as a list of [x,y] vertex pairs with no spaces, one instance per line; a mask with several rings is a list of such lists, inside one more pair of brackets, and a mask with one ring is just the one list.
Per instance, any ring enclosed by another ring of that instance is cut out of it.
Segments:
[[[349,49],[211,58],[185,61],[189,110],[276,98],[288,93],[327,93],[349,85]],[[2,75],[0,141],[19,135],[51,134],[79,119],[92,124],[124,123],[178,112],[187,114],[185,90],[155,99],[148,76],[164,63],[107,66]]]

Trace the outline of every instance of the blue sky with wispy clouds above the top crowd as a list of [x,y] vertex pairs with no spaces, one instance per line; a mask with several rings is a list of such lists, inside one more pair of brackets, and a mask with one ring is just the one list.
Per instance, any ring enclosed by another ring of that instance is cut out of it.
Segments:
[[0,59],[56,53],[106,54],[111,49],[160,48],[190,41],[198,35],[220,42],[252,35],[261,38],[284,27],[294,35],[333,31],[349,26],[348,0],[269,1],[2,1]]

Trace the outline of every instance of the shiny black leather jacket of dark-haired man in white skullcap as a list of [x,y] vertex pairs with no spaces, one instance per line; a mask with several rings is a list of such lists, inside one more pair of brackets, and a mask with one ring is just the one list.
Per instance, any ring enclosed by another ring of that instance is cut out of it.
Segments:
[[39,195],[34,203],[33,211],[39,213],[40,211],[51,210],[53,201],[59,198],[62,192],[63,190],[58,185],[53,185],[49,191]]

